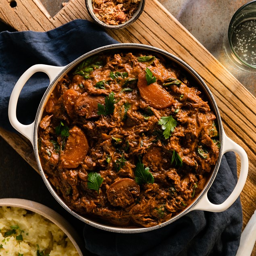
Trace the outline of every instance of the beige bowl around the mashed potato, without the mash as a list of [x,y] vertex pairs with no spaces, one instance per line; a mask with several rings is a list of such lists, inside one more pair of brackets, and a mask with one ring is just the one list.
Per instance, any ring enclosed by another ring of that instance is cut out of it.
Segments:
[[[83,256],[83,248],[82,248],[82,239],[79,237],[75,229],[64,219],[60,214],[44,206],[43,204],[19,199],[19,198],[2,198],[0,199],[0,207],[1,206],[9,206],[9,207],[17,207],[23,208],[25,210],[29,210],[31,212],[35,212],[40,214],[41,216],[45,217],[56,226],[58,226],[66,235],[69,237],[71,243],[74,245],[75,249],[77,250],[79,256]],[[2,255],[2,254],[1,254]]]

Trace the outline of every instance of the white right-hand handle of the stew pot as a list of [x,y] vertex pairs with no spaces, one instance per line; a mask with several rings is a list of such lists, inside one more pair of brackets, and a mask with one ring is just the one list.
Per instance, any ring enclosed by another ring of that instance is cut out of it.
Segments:
[[225,154],[228,151],[233,151],[237,153],[240,157],[241,161],[241,167],[240,167],[240,174],[237,181],[237,184],[235,185],[234,190],[230,194],[230,196],[222,203],[222,204],[212,204],[207,196],[207,193],[204,194],[204,196],[201,198],[201,200],[196,204],[196,206],[193,208],[193,210],[205,210],[210,212],[223,212],[227,210],[239,197],[242,189],[244,188],[244,184],[246,183],[246,178],[248,175],[248,156],[245,152],[245,150],[233,142],[232,139],[227,137],[227,135],[223,132],[223,154]]

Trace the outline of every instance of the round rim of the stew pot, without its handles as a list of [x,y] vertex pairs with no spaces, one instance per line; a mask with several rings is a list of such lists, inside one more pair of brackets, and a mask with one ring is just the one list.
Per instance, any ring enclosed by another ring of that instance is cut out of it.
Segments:
[[[96,221],[92,221],[90,219],[88,219],[85,216],[81,216],[80,214],[74,212],[73,210],[71,210],[66,204],[65,202],[56,194],[54,188],[52,187],[52,185],[50,184],[50,182],[48,181],[48,179],[46,178],[46,175],[42,169],[41,163],[40,163],[40,158],[39,158],[39,153],[38,153],[38,148],[37,148],[37,135],[38,135],[38,127],[41,121],[41,117],[42,117],[42,112],[44,110],[44,106],[46,104],[46,101],[48,99],[48,96],[50,94],[50,92],[53,90],[53,88],[55,87],[56,83],[59,81],[59,79],[65,75],[66,73],[68,73],[73,67],[75,67],[75,65],[77,65],[80,61],[82,61],[85,58],[88,58],[89,56],[92,56],[94,54],[99,54],[101,52],[104,51],[108,51],[108,50],[125,50],[125,49],[131,49],[131,50],[148,50],[148,51],[153,51],[153,52],[157,52],[160,53],[162,55],[164,55],[165,57],[175,61],[182,69],[185,69],[188,73],[190,73],[198,82],[198,86],[202,89],[204,89],[204,93],[206,94],[206,96],[208,97],[208,100],[210,100],[210,105],[211,105],[211,109],[214,112],[214,114],[216,115],[216,121],[218,122],[218,131],[219,131],[219,139],[221,142],[221,147],[219,148],[219,157],[218,160],[215,164],[214,169],[212,170],[212,174],[210,175],[208,182],[206,183],[204,189],[201,191],[201,193],[195,198],[195,200],[189,205],[187,206],[183,211],[179,212],[179,214],[173,216],[171,219],[169,219],[168,221],[165,221],[164,223],[161,223],[159,225],[153,226],[153,227],[115,227],[112,225],[105,225],[102,223],[98,223]],[[221,158],[222,158],[222,152],[223,152],[223,137],[224,137],[224,130],[223,130],[223,125],[222,125],[222,121],[221,121],[221,116],[219,113],[219,109],[218,106],[214,100],[214,97],[212,96],[212,93],[210,92],[210,89],[208,88],[208,86],[206,85],[206,83],[204,82],[204,80],[200,77],[200,75],[198,75],[198,73],[192,69],[186,62],[184,62],[183,60],[181,60],[180,58],[178,58],[177,56],[165,51],[165,50],[161,50],[159,48],[156,48],[154,46],[148,46],[148,45],[144,45],[144,44],[111,44],[108,46],[102,46],[100,48],[97,48],[95,50],[92,50],[90,52],[87,52],[85,54],[83,54],[82,56],[80,56],[79,58],[73,60],[71,63],[69,63],[67,66],[63,67],[62,71],[55,77],[55,79],[52,81],[52,83],[50,83],[49,87],[46,89],[46,92],[44,93],[44,96],[42,97],[42,100],[40,102],[40,105],[37,109],[37,113],[36,113],[36,117],[35,117],[35,125],[34,125],[34,131],[33,131],[33,148],[35,151],[35,158],[37,161],[37,165],[40,171],[40,174],[44,180],[44,183],[46,184],[47,188],[49,189],[49,191],[51,192],[52,196],[54,196],[54,198],[58,201],[58,203],[65,208],[69,213],[71,213],[72,215],[74,215],[75,217],[77,217],[79,220],[83,221],[84,223],[87,223],[89,225],[92,225],[94,227],[100,228],[100,229],[104,229],[106,231],[113,231],[113,232],[118,232],[118,233],[139,233],[139,232],[146,232],[146,231],[152,231],[154,229],[158,229],[160,227],[164,227],[174,221],[176,221],[177,219],[181,218],[182,216],[184,216],[185,214],[187,214],[188,212],[190,212],[191,210],[193,210],[193,208],[196,206],[196,204],[207,194],[208,190],[210,189],[210,186],[212,185],[216,174],[219,170],[219,166],[221,163]]]

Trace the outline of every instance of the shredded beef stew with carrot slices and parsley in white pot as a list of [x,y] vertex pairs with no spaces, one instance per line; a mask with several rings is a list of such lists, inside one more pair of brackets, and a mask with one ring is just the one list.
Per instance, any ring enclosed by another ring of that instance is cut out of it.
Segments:
[[204,188],[219,156],[215,119],[200,88],[170,60],[99,54],[50,94],[39,129],[42,168],[73,211],[152,227]]

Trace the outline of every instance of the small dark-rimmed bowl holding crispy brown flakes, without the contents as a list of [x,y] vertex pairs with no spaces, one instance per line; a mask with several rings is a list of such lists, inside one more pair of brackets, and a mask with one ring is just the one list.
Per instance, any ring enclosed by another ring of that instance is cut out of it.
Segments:
[[128,21],[125,21],[125,23],[121,23],[119,25],[108,25],[103,21],[100,21],[100,19],[98,19],[98,17],[94,13],[93,6],[92,6],[93,0],[85,0],[85,5],[89,15],[92,17],[93,21],[96,22],[98,25],[107,29],[123,29],[124,27],[128,27],[129,25],[131,25],[134,21],[136,21],[139,18],[139,16],[142,14],[144,10],[145,1],[146,0],[140,0],[139,7],[133,14],[133,17],[131,17]]

